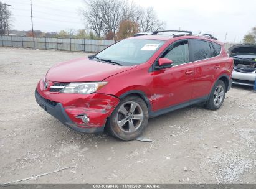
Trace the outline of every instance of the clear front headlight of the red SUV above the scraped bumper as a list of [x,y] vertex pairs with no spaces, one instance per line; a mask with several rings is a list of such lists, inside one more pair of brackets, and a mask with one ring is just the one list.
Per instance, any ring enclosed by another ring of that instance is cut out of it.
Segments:
[[100,90],[107,82],[69,83],[60,93],[91,94]]

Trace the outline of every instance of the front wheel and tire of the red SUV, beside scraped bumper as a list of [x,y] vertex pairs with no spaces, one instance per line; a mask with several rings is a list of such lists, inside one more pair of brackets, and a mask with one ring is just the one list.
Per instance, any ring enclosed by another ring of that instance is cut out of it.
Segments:
[[106,129],[123,141],[136,139],[148,125],[148,107],[138,96],[128,96],[120,101],[108,118]]

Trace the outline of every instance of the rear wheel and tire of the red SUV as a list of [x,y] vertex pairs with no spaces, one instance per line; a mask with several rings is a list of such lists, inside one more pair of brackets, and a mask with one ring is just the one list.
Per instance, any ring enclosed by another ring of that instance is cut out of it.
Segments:
[[218,80],[212,88],[210,98],[206,101],[205,107],[211,110],[219,109],[225,99],[225,83]]

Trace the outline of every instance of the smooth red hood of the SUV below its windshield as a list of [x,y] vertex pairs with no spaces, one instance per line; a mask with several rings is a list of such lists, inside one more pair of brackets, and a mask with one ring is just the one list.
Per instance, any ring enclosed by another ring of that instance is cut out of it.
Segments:
[[135,67],[97,62],[86,57],[55,65],[49,69],[46,78],[54,82],[103,81],[105,78]]

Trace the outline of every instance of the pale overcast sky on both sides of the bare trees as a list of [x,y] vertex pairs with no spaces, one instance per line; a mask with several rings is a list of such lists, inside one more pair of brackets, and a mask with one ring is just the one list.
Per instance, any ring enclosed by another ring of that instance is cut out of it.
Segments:
[[[12,5],[11,29],[31,30],[30,0],[0,1]],[[154,7],[158,18],[166,22],[166,29],[214,34],[222,42],[240,42],[244,34],[256,26],[255,0],[133,2],[145,8]],[[78,13],[83,7],[83,0],[32,0],[34,30],[84,29],[85,23]]]

